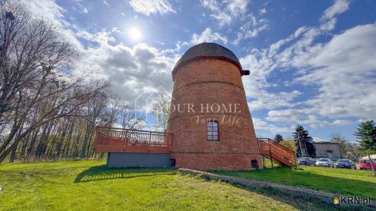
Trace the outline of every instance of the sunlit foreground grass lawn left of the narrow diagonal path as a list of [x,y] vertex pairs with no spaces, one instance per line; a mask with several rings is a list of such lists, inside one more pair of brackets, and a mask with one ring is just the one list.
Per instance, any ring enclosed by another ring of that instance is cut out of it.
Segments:
[[315,199],[207,182],[174,168],[108,169],[104,163],[0,165],[0,210],[333,210]]

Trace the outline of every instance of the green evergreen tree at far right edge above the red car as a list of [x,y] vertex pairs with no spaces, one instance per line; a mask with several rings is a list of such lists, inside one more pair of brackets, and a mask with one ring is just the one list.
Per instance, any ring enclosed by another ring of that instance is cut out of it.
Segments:
[[376,152],[376,126],[371,121],[362,122],[357,128],[357,132],[354,135],[359,138],[359,144],[361,151]]

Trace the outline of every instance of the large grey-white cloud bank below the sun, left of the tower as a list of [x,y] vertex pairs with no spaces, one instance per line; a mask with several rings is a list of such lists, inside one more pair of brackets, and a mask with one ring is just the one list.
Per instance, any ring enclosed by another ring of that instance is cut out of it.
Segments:
[[[146,44],[133,47],[122,43],[115,44],[112,33],[118,32],[117,27],[110,31],[102,30],[90,33],[74,27],[64,19],[65,10],[53,1],[36,0],[24,2],[35,17],[46,17],[58,26],[81,55],[76,72],[90,72],[90,77],[109,80],[114,92],[134,105],[134,99],[144,91],[163,86],[172,90],[171,69],[178,57],[165,56],[163,52]],[[87,40],[89,46],[83,47],[79,39]],[[147,97],[147,96],[145,96]],[[143,105],[141,97],[139,105]]]

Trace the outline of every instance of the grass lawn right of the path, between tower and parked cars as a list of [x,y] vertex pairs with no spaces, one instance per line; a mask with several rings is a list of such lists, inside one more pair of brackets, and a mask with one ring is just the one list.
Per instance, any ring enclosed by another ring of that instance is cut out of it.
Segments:
[[300,166],[292,168],[266,168],[254,171],[211,171],[212,173],[262,180],[279,184],[307,187],[344,195],[376,199],[376,177],[372,171],[354,169]]

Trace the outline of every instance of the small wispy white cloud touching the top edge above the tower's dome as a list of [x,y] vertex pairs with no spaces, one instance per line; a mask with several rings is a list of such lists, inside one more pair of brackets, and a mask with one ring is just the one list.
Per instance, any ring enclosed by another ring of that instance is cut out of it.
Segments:
[[235,18],[242,18],[248,5],[247,0],[230,0],[218,3],[216,0],[202,0],[201,5],[210,9],[210,17],[216,19],[220,26],[229,25]]

